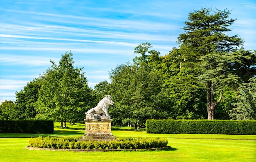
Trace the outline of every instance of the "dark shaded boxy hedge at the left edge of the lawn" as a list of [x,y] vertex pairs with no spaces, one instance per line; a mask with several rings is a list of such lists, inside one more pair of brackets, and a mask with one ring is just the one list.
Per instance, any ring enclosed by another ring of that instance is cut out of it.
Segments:
[[0,133],[53,133],[50,120],[0,120]]

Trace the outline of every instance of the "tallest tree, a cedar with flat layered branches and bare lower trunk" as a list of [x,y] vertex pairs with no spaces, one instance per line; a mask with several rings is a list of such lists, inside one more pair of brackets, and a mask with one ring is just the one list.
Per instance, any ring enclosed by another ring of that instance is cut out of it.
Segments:
[[189,65],[187,68],[206,85],[209,120],[214,119],[215,108],[222,100],[223,87],[240,81],[230,65],[240,61],[234,51],[243,44],[243,40],[238,35],[227,34],[235,21],[229,18],[230,14],[227,9],[193,11],[184,22],[185,32],[178,37],[184,51],[184,62]]

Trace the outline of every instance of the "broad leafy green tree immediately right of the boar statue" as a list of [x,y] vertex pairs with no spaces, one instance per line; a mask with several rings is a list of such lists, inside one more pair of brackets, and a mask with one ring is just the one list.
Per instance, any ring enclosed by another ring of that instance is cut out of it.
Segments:
[[158,60],[159,52],[149,51],[149,48],[149,43],[135,47],[135,53],[140,56],[133,59],[134,63],[119,65],[110,74],[115,102],[115,107],[110,110],[113,120],[135,125],[138,129],[147,119],[159,119],[164,115],[158,107],[157,98],[162,87],[162,77],[150,66]]

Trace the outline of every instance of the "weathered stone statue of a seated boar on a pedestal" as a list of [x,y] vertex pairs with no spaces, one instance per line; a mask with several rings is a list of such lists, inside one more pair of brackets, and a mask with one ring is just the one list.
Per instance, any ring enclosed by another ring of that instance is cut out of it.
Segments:
[[102,116],[109,116],[108,115],[108,106],[113,105],[114,102],[111,99],[111,95],[106,95],[97,105],[97,107],[94,107],[90,110],[88,110],[85,114],[87,115],[100,115]]

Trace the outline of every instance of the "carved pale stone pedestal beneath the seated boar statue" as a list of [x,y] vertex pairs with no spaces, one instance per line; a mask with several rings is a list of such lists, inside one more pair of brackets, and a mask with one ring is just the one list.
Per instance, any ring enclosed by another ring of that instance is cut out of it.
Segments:
[[[96,118],[96,119],[95,119]],[[99,140],[110,141],[116,140],[111,133],[111,119],[108,116],[86,115],[85,133],[81,140]]]

